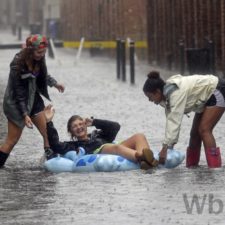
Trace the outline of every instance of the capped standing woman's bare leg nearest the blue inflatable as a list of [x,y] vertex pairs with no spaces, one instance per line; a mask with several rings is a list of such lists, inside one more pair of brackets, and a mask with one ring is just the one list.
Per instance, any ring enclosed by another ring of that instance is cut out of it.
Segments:
[[47,125],[44,112],[40,112],[35,116],[32,116],[32,122],[38,128],[40,134],[43,137],[44,147],[49,147],[48,135],[47,135]]

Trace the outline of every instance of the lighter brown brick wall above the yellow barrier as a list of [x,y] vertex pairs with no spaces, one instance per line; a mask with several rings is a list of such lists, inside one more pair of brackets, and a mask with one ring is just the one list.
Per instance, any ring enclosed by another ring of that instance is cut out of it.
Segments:
[[66,0],[61,2],[64,40],[147,39],[147,0]]

